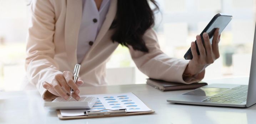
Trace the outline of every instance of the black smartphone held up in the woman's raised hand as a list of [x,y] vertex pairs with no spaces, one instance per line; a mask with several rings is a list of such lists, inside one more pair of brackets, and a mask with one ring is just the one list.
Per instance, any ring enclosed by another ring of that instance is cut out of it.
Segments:
[[[204,44],[204,39],[202,38],[203,33],[208,33],[209,38],[210,38],[210,42],[212,44],[212,38],[214,35],[214,32],[217,28],[220,28],[219,33],[222,32],[222,30],[225,29],[225,27],[227,26],[227,24],[229,24],[229,22],[231,21],[232,16],[231,15],[226,15],[226,14],[222,14],[222,13],[218,13],[216,14],[211,21],[209,22],[209,24],[207,24],[207,26],[205,27],[205,29],[202,31],[202,33],[200,34],[201,39],[202,39],[202,43]],[[195,41],[196,43],[196,41]],[[196,51],[197,54],[200,55],[198,47],[197,47],[197,43],[196,43]],[[191,48],[189,48],[189,50],[186,52],[186,54],[184,55],[184,58],[186,60],[192,60],[193,56],[192,56],[192,52],[191,52]]]

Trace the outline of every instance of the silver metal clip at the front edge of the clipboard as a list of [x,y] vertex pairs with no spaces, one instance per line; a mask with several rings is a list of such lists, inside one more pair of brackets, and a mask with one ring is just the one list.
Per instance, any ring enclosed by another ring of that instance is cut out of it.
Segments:
[[[105,110],[108,110],[107,112]],[[102,112],[104,111],[104,112]],[[106,116],[106,115],[121,115],[121,114],[126,114],[126,109],[116,109],[116,110],[111,110],[111,109],[102,109],[100,111],[85,111],[84,112],[85,116]]]

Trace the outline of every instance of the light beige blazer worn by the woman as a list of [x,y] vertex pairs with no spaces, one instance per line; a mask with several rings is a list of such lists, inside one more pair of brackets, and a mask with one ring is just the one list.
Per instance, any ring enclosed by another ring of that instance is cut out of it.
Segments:
[[[80,77],[83,86],[106,85],[106,60],[118,43],[111,41],[114,30],[109,29],[115,18],[117,0],[111,0],[106,19],[91,49],[81,63]],[[46,95],[42,82],[51,83],[56,74],[73,71],[77,63],[77,37],[82,16],[82,0],[34,0],[31,3],[32,19],[26,46],[26,72],[30,83],[34,84],[45,100],[54,98]],[[149,53],[133,50],[129,46],[132,60],[141,72],[154,79],[193,83],[204,76],[185,82],[182,74],[189,61],[170,58],[157,43],[153,29],[143,36]],[[204,73],[204,72],[203,72]],[[201,74],[204,75],[204,74]]]

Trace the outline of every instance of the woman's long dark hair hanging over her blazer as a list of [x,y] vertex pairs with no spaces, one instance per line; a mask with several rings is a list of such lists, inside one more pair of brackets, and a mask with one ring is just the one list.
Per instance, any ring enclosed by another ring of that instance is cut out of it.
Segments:
[[[155,5],[151,10],[149,1]],[[145,31],[154,26],[154,11],[159,10],[155,0],[118,0],[116,18],[111,25],[115,28],[112,41],[121,45],[131,45],[134,50],[149,52],[142,39]]]

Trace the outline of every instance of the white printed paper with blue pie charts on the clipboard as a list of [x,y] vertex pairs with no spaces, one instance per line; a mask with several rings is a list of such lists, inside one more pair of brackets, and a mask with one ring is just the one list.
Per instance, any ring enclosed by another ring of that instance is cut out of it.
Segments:
[[[67,116],[81,116],[85,111],[100,111],[102,109],[127,109],[127,112],[146,112],[151,111],[137,96],[132,92],[124,94],[100,94],[100,95],[86,95],[97,97],[97,102],[91,109],[72,109],[60,110],[61,115]],[[104,110],[108,111],[108,110]],[[101,112],[104,112],[101,111]]]

